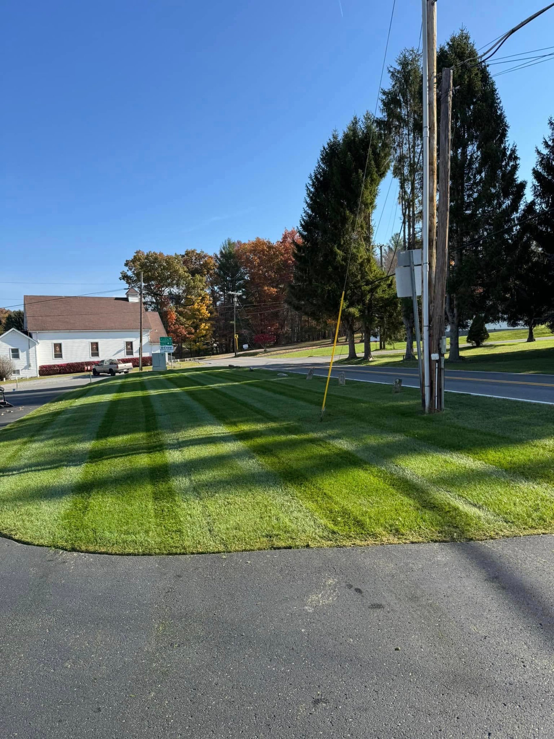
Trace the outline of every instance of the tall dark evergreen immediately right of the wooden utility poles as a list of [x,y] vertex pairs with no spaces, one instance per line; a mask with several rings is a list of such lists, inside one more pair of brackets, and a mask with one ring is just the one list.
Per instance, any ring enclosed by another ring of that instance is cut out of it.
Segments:
[[507,285],[503,265],[513,258],[514,232],[525,183],[507,140],[496,84],[485,64],[462,64],[477,52],[467,31],[438,53],[437,68],[454,67],[451,205],[446,310],[451,361],[459,360],[459,329],[471,316],[502,314]]

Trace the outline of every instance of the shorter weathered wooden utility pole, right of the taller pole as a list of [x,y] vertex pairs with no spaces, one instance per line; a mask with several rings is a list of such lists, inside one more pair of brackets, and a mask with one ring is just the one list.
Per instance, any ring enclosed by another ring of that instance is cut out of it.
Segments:
[[435,267],[434,301],[431,312],[431,410],[444,410],[446,276],[448,272],[448,211],[450,209],[450,148],[452,120],[452,69],[442,69],[440,86],[439,230]]

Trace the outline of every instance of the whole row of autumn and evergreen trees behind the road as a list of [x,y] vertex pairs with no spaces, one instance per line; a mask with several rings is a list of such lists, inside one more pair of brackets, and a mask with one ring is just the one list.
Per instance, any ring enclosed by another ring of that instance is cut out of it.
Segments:
[[[530,200],[519,175],[499,92],[466,30],[437,52],[437,69],[454,69],[451,205],[445,326],[451,361],[459,335],[483,335],[487,322],[506,320],[554,328],[554,120],[536,149]],[[397,299],[398,251],[422,242],[421,52],[403,50],[389,67],[380,115],[354,116],[332,132],[310,174],[298,229],[277,242],[227,239],[211,256],[137,251],[121,273],[137,287],[140,270],[149,308],[189,351],[230,351],[236,302],[240,343],[328,338],[344,289],[342,330],[355,358],[355,335],[406,339],[413,357],[411,300]],[[440,105],[437,106],[440,110]],[[440,159],[441,152],[438,152]],[[400,231],[375,243],[375,205],[383,179],[398,183]],[[191,303],[192,304],[188,304]]]

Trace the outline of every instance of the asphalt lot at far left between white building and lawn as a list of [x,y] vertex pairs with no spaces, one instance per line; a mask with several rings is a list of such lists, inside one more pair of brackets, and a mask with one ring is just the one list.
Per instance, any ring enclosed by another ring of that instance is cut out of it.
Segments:
[[[93,377],[92,382],[98,382],[106,379],[106,377],[107,375],[101,375],[98,378]],[[16,390],[16,385],[13,383],[0,384],[6,391],[6,400],[13,405],[13,408],[0,408],[0,429],[40,408],[44,403],[53,401],[62,392],[75,390],[86,384],[89,384],[89,378],[86,375],[28,380],[19,384],[18,390]]]

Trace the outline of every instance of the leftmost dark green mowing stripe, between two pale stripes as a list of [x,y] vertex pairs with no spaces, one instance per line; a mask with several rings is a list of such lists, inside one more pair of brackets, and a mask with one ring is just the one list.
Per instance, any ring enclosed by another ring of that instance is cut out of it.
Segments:
[[66,511],[71,548],[162,554],[181,535],[165,448],[140,375],[120,384]]

